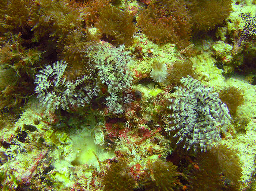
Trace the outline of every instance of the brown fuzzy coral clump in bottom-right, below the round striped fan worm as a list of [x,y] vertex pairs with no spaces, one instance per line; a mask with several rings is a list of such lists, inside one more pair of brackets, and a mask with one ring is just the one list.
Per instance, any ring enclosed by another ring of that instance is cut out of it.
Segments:
[[192,191],[237,191],[241,166],[236,151],[226,145],[213,147],[197,157],[199,169],[189,175]]

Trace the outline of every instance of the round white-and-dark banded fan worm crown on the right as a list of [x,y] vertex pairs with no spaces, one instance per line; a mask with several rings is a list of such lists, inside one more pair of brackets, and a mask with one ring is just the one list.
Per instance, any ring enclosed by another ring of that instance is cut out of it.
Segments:
[[217,127],[229,123],[229,110],[211,87],[204,87],[190,76],[180,81],[184,87],[176,87],[174,98],[169,99],[167,108],[172,113],[168,115],[166,130],[178,130],[173,137],[179,137],[177,144],[185,142],[183,148],[193,146],[196,150],[199,145],[201,152],[206,151],[208,143],[220,139]]

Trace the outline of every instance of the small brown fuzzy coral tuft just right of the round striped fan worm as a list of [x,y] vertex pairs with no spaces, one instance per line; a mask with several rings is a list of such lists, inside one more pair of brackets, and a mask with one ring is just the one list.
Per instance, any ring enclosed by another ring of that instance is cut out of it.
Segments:
[[221,90],[219,98],[227,105],[232,116],[236,114],[237,107],[244,102],[242,91],[234,86]]

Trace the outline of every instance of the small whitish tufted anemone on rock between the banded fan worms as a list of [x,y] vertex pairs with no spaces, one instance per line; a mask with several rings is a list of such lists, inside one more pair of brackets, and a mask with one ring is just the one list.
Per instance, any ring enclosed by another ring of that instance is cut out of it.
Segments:
[[163,82],[167,77],[167,66],[163,60],[158,61],[156,58],[152,61],[152,70],[150,77],[156,82]]

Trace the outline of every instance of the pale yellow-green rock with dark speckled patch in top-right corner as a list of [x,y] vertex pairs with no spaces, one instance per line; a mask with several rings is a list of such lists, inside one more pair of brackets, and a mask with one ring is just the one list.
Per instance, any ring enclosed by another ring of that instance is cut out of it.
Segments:
[[[217,38],[232,49],[228,56],[223,57],[224,69],[228,68],[228,73],[255,73],[255,5],[249,4],[243,1],[233,2],[228,22],[218,28],[216,33]],[[230,59],[232,57],[233,60]]]

